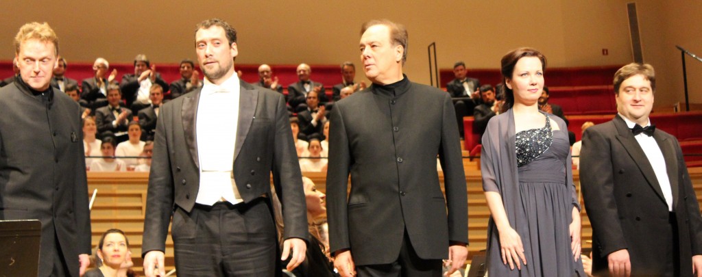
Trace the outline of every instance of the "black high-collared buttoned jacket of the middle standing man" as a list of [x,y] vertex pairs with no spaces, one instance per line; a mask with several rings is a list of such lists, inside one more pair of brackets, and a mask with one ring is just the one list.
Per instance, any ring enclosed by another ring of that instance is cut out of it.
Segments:
[[373,84],[331,110],[330,250],[350,249],[357,265],[397,260],[405,229],[422,259],[446,259],[449,241],[468,243],[465,173],[451,97],[409,80],[397,90],[404,92],[393,98]]

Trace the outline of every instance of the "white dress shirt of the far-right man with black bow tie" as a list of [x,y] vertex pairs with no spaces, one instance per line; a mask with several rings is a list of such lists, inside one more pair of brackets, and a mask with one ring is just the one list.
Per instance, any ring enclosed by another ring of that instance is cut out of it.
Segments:
[[[619,116],[624,119],[629,129],[632,129],[636,125],[636,123],[628,120],[628,118],[625,118],[621,113]],[[649,125],[651,125],[650,119],[646,126],[642,127],[647,127]],[[661,185],[663,197],[665,197],[665,202],[668,204],[668,211],[673,211],[673,190],[670,188],[670,179],[668,178],[668,171],[665,166],[665,159],[663,158],[661,148],[658,146],[653,136],[641,133],[634,136],[634,138],[639,142],[639,145],[641,145],[641,149],[644,150],[644,154],[646,154],[651,167],[654,169],[654,173],[656,173],[656,179],[658,179],[658,184]]]

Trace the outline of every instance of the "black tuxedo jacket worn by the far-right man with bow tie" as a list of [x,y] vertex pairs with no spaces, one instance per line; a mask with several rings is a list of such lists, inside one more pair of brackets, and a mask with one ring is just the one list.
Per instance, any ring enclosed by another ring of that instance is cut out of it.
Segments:
[[[674,136],[658,129],[654,139],[663,152],[673,191],[680,240],[680,269],[692,273],[692,255],[702,254],[702,218],[695,192]],[[632,276],[661,275],[661,250],[671,243],[665,234],[668,204],[640,144],[617,115],[585,130],[581,150],[581,186],[592,224],[592,272],[607,272],[607,255],[628,249]]]

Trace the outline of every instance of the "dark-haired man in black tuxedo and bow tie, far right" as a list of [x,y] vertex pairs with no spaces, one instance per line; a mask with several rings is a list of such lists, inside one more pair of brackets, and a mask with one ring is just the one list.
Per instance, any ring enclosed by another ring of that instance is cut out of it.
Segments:
[[651,125],[649,64],[614,75],[618,114],[583,134],[581,186],[592,224],[592,272],[702,276],[702,218],[675,136]]

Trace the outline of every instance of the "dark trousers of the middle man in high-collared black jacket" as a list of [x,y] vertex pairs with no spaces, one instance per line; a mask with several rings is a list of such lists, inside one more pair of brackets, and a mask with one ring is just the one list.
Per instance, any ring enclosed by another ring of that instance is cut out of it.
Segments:
[[[446,250],[448,251],[448,249]],[[356,272],[359,277],[440,277],[442,276],[442,260],[423,260],[420,258],[414,251],[405,229],[399,257],[395,262],[356,266]]]

